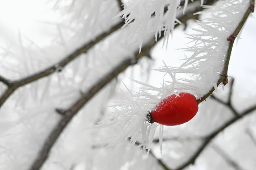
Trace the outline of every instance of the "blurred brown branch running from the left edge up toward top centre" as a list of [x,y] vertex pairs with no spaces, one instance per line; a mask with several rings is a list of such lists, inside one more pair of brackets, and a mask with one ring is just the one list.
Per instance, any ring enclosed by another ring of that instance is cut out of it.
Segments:
[[119,22],[117,24],[115,24],[114,26],[112,26],[108,32],[102,33],[100,35],[98,35],[95,39],[91,40],[90,42],[85,43],[84,45],[82,45],[80,48],[76,49],[74,52],[72,52],[71,54],[69,54],[67,57],[65,57],[64,59],[62,59],[60,62],[44,69],[43,71],[39,71],[38,73],[35,73],[31,76],[10,82],[9,85],[9,89],[7,89],[3,95],[0,97],[0,108],[3,105],[3,103],[6,101],[6,99],[8,99],[9,96],[11,96],[11,94],[17,89],[20,88],[23,85],[29,84],[31,82],[34,82],[38,79],[41,79],[42,77],[46,77],[49,76],[53,73],[55,73],[55,71],[59,71],[60,68],[64,68],[67,64],[69,64],[71,61],[73,61],[74,59],[76,59],[77,57],[79,57],[80,54],[83,53],[87,53],[87,51],[92,48],[95,44],[97,44],[98,42],[100,42],[101,40],[103,40],[105,37],[108,37],[110,34],[112,34],[113,32],[115,32],[116,30],[118,30],[119,28],[121,28],[124,25],[124,22]]

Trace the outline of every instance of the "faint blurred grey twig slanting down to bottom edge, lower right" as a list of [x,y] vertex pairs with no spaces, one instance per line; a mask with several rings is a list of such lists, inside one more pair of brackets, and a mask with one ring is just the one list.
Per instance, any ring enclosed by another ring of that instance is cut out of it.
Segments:
[[225,153],[224,150],[222,150],[219,146],[217,146],[216,144],[212,144],[211,147],[223,159],[225,159],[225,161],[227,161],[227,163],[230,164],[231,167],[233,167],[236,170],[244,170],[243,168],[240,167],[240,165],[238,163],[236,163],[236,161],[232,160],[232,158],[230,158],[230,156],[227,153]]

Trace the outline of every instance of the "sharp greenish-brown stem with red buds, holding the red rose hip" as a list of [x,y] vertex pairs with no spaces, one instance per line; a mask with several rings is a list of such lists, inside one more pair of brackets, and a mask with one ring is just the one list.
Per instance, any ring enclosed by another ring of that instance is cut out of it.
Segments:
[[[228,70],[228,65],[229,65],[229,61],[230,61],[230,56],[231,56],[233,44],[235,42],[235,39],[236,39],[237,35],[241,31],[241,28],[244,26],[245,21],[249,17],[249,14],[254,11],[254,1],[255,0],[250,1],[250,6],[247,8],[247,10],[246,10],[244,16],[242,17],[242,20],[240,21],[239,25],[236,27],[233,34],[230,37],[227,38],[227,41],[230,41],[230,44],[229,44],[229,47],[228,47],[228,50],[227,50],[227,57],[226,57],[226,60],[225,60],[225,63],[224,63],[223,73],[217,81],[217,86],[220,85],[221,82],[224,85],[227,84],[227,70]],[[215,91],[214,87],[206,95],[201,97],[201,99],[197,100],[198,104],[203,102],[205,99],[207,99],[213,93],[213,91]]]

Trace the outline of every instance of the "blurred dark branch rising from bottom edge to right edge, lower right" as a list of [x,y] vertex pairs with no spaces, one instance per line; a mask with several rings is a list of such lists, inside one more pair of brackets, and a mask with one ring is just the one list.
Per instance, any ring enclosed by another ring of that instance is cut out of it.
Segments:
[[248,108],[243,113],[241,113],[241,116],[234,117],[233,119],[230,119],[228,122],[226,122],[224,125],[213,131],[203,142],[203,144],[198,148],[198,150],[193,154],[193,156],[186,162],[184,162],[180,167],[178,167],[175,170],[183,170],[185,167],[187,167],[189,164],[194,164],[195,160],[198,158],[198,156],[202,153],[202,151],[207,147],[207,145],[214,139],[218,134],[223,132],[227,127],[230,127],[230,125],[233,125],[235,122],[239,121],[244,116],[247,116],[253,111],[256,110],[256,105],[252,106],[251,108]]

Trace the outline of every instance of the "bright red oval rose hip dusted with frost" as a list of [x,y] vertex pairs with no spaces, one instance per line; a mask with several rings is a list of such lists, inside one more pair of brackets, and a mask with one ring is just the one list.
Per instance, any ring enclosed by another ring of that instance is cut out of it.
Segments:
[[151,111],[152,120],[161,125],[175,126],[191,120],[198,112],[198,104],[194,95],[180,93],[163,99]]

